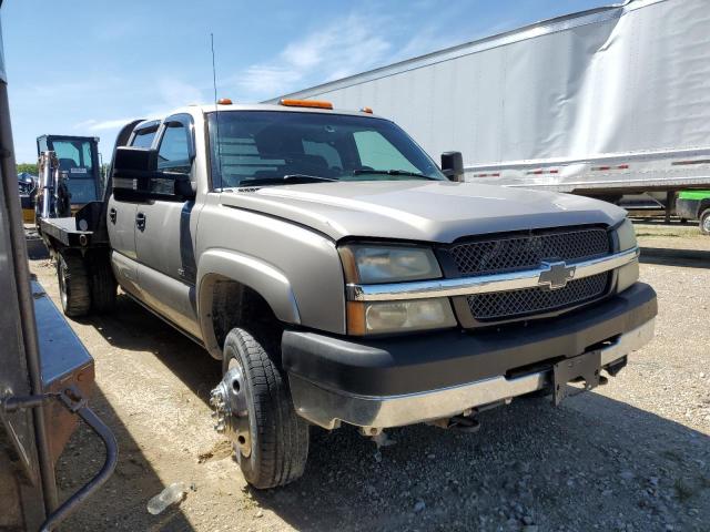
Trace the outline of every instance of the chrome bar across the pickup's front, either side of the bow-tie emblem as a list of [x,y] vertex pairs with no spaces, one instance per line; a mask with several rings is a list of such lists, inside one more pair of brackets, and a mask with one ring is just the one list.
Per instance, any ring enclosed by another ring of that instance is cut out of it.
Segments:
[[[580,279],[602,274],[638,260],[639,248],[633,247],[625,252],[605,257],[570,263],[575,268],[574,278]],[[542,286],[540,275],[549,272],[549,265],[523,272],[505,274],[478,275],[459,279],[433,279],[413,283],[386,283],[382,285],[355,285],[346,287],[351,301],[392,301],[405,299],[426,299],[430,297],[470,296],[491,291],[518,290]]]

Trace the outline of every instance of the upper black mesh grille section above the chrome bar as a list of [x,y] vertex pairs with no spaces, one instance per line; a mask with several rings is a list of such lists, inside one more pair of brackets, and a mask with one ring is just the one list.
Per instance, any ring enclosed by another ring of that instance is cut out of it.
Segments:
[[599,227],[506,236],[457,244],[449,249],[463,276],[531,269],[542,260],[569,263],[609,252],[609,236]]

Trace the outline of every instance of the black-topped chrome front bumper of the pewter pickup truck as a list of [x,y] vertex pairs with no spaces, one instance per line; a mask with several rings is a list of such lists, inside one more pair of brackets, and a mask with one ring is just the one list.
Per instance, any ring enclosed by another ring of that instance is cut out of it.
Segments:
[[384,429],[544,389],[556,362],[585,352],[620,367],[653,337],[656,314],[656,293],[637,283],[592,307],[503,330],[357,340],[286,330],[283,366],[303,418]]

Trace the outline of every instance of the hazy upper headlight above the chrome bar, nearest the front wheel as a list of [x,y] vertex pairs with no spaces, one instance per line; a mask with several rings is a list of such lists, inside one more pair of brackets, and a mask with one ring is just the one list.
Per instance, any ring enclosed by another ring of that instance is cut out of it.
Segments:
[[442,277],[436,257],[427,248],[349,245],[341,248],[341,257],[348,283],[372,285]]

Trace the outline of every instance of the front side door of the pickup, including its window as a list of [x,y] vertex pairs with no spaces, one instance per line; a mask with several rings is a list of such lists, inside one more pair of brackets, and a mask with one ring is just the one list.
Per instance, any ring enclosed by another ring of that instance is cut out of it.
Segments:
[[[176,114],[158,133],[158,170],[194,180],[192,116]],[[154,200],[138,205],[135,248],[141,298],[186,332],[200,337],[195,306],[194,200]]]

